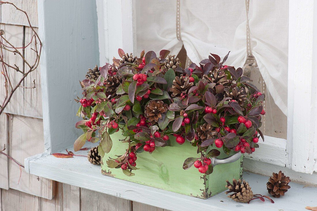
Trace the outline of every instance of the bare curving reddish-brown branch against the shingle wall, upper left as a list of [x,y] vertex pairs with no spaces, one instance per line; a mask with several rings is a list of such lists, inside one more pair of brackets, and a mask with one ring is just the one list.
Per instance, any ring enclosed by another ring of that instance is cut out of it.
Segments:
[[[3,78],[4,80],[4,87],[5,87],[5,95],[4,95],[4,99],[0,101],[0,115],[3,113],[3,110],[5,109],[5,107],[8,105],[8,103],[10,102],[14,92],[18,89],[18,88],[23,88],[23,89],[34,89],[36,88],[35,85],[35,80],[33,81],[33,86],[32,87],[27,87],[27,86],[23,86],[21,85],[24,82],[24,79],[29,75],[29,73],[33,72],[34,70],[36,70],[36,68],[39,65],[40,62],[40,57],[41,57],[41,52],[42,52],[42,42],[40,37],[38,36],[37,32],[35,31],[34,27],[32,26],[29,16],[28,14],[21,10],[20,8],[18,8],[14,3],[11,2],[3,2],[0,1],[0,5],[2,4],[10,4],[13,7],[15,7],[16,10],[21,11],[22,13],[24,13],[24,15],[26,16],[28,23],[29,23],[29,27],[32,30],[32,36],[30,38],[30,41],[28,42],[27,45],[25,46],[14,46],[12,43],[9,42],[9,40],[7,40],[5,38],[5,31],[4,30],[0,30],[0,63],[1,63],[1,78]],[[32,52],[35,52],[36,57],[34,59],[34,61],[28,61],[25,56],[23,51],[30,46],[31,44],[34,45],[33,48],[30,48],[32,50]],[[20,51],[22,50],[22,51]],[[14,55],[19,55],[21,57],[21,59],[23,60],[23,66],[25,67],[24,70],[20,70],[19,67],[17,66],[17,64],[14,65],[10,65],[8,62],[5,61],[5,52],[7,53],[13,53]],[[14,72],[11,71],[10,69],[15,70]],[[9,72],[11,74],[9,74]],[[22,76],[20,75],[16,75],[15,73],[19,72],[22,74]],[[15,74],[15,78],[19,77],[20,79],[18,80],[18,82],[13,85],[11,82],[11,79],[13,77],[13,74]]]

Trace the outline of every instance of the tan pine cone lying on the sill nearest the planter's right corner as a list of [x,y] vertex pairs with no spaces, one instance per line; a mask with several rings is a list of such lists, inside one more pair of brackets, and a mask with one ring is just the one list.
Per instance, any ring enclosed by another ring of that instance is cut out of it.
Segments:
[[229,198],[233,199],[234,201],[248,203],[253,198],[253,192],[249,186],[249,183],[243,180],[239,179],[239,181],[236,181],[236,179],[233,179],[233,184],[231,184],[227,180],[226,188],[229,189],[229,191],[226,191],[226,194],[229,194],[231,192],[234,192],[231,195],[228,195]]

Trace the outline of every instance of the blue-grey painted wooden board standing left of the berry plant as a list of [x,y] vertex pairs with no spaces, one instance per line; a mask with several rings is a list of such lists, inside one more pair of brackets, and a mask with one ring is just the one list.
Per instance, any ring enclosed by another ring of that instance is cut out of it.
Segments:
[[74,124],[81,96],[79,80],[99,64],[96,2],[38,1],[39,36],[43,42],[41,79],[45,150],[72,145],[81,131]]

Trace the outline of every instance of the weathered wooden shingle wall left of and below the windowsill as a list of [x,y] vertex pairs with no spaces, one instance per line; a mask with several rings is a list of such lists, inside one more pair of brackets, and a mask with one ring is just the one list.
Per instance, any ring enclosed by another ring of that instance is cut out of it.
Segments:
[[[37,0],[11,0],[10,2],[26,10],[33,26],[38,26]],[[22,13],[11,5],[1,5],[0,11],[0,28],[5,31],[6,38],[17,46],[23,46],[23,42],[27,44],[32,35]],[[32,45],[24,51],[27,59],[32,59],[34,56],[30,50],[31,47]],[[6,61],[9,61],[9,64],[23,66],[21,59],[13,54],[4,53],[4,57]],[[6,150],[4,152],[21,164],[24,163],[24,158],[44,151],[40,73],[38,68],[23,82],[23,85],[28,87],[32,86],[32,81],[35,79],[36,88],[19,88],[5,109],[5,114],[0,116],[0,148],[2,149],[5,144]],[[18,74],[10,71],[10,76],[14,78],[13,83],[20,77]],[[3,76],[0,75],[0,100],[3,99],[4,95],[3,85]],[[1,211],[163,210],[29,175],[25,173],[23,168],[20,178],[19,166],[4,155],[0,155],[0,169]]]

